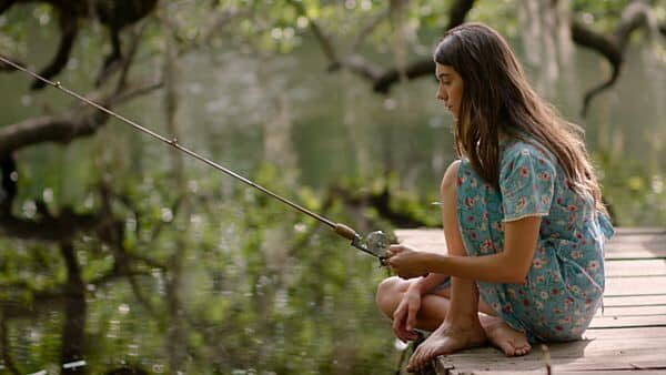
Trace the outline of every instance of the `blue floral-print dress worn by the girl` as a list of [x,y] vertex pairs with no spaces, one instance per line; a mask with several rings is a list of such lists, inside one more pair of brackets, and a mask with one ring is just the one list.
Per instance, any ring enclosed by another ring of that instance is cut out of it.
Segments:
[[501,144],[500,191],[463,160],[457,174],[458,223],[468,255],[504,249],[503,222],[542,216],[524,284],[477,282],[483,301],[531,342],[577,339],[604,294],[608,217],[567,184],[553,154],[532,143]]

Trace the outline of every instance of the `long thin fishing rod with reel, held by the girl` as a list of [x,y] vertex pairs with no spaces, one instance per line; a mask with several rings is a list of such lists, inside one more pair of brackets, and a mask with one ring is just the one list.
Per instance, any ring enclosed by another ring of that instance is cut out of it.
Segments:
[[292,209],[294,209],[296,211],[300,211],[301,213],[304,213],[304,214],[313,217],[314,220],[316,220],[316,221],[319,221],[321,223],[324,223],[324,224],[329,225],[337,235],[340,235],[340,236],[342,236],[344,239],[351,240],[352,241],[351,242],[352,246],[359,249],[360,251],[362,251],[362,252],[364,252],[364,253],[366,253],[369,255],[372,255],[372,256],[379,259],[380,263],[383,265],[383,261],[385,259],[386,251],[389,250],[389,246],[391,245],[391,241],[389,240],[389,237],[386,236],[386,234],[384,234],[382,231],[371,232],[371,233],[367,234],[367,236],[363,237],[356,231],[354,231],[351,226],[345,225],[343,223],[335,223],[335,222],[333,222],[333,221],[324,217],[323,215],[321,215],[319,213],[312,212],[312,211],[310,211],[310,210],[307,210],[307,209],[305,209],[305,207],[303,207],[303,206],[301,206],[301,205],[299,205],[299,204],[296,204],[296,203],[294,203],[294,202],[292,202],[292,201],[283,197],[283,196],[280,196],[276,193],[273,193],[272,191],[268,190],[266,188],[263,188],[262,185],[250,181],[249,179],[246,179],[246,178],[244,178],[244,176],[242,176],[242,175],[240,175],[240,174],[238,174],[238,173],[235,173],[235,172],[233,172],[233,171],[231,171],[231,170],[229,170],[229,169],[226,169],[226,168],[224,168],[224,166],[215,163],[214,161],[212,161],[212,160],[210,160],[208,158],[204,158],[204,156],[198,154],[196,152],[194,152],[194,151],[192,151],[192,150],[190,150],[188,148],[182,146],[180,143],[178,143],[178,140],[175,138],[168,139],[168,138],[165,138],[163,135],[160,135],[159,133],[157,133],[157,132],[154,132],[154,131],[152,131],[152,130],[150,130],[150,129],[148,129],[145,126],[142,126],[142,125],[138,124],[137,122],[134,122],[134,121],[132,121],[132,120],[130,120],[130,119],[128,119],[128,118],[125,118],[125,116],[123,116],[121,114],[118,114],[118,113],[111,111],[110,109],[108,109],[108,108],[105,108],[105,107],[103,107],[101,104],[98,104],[98,103],[93,102],[92,100],[90,100],[90,99],[88,99],[85,97],[82,97],[82,95],[75,93],[74,91],[72,91],[70,89],[67,89],[65,87],[63,87],[60,83],[60,81],[51,81],[49,79],[46,79],[46,78],[41,77],[40,74],[38,74],[38,73],[36,73],[36,72],[33,72],[31,70],[28,70],[28,69],[26,69],[26,68],[17,64],[17,63],[14,63],[11,60],[4,59],[2,55],[0,55],[0,61],[4,62],[6,64],[8,64],[8,65],[10,65],[10,67],[12,67],[12,68],[14,68],[14,69],[17,69],[17,70],[26,73],[26,74],[28,74],[28,75],[31,75],[32,78],[36,78],[36,79],[38,79],[38,80],[40,80],[40,81],[42,81],[42,82],[44,82],[44,83],[47,83],[47,84],[56,88],[56,89],[64,92],[65,94],[68,94],[70,97],[73,97],[73,98],[78,99],[79,101],[84,102],[88,105],[92,105],[92,107],[97,108],[98,110],[100,110],[100,111],[102,111],[102,112],[104,112],[104,113],[107,113],[107,114],[109,114],[109,115],[111,115],[111,116],[120,120],[121,122],[124,122],[124,123],[131,125],[135,130],[139,130],[139,131],[141,131],[141,132],[143,132],[145,134],[149,134],[152,138],[154,138],[154,139],[157,139],[159,141],[162,141],[163,143],[167,143],[167,144],[171,145],[172,148],[174,148],[174,149],[176,149],[176,150],[179,150],[179,151],[181,151],[181,152],[183,152],[183,153],[185,153],[185,154],[188,154],[188,155],[190,155],[190,156],[192,156],[192,158],[194,158],[194,159],[196,159],[199,161],[202,161],[203,163],[205,163],[205,164],[208,164],[208,165],[216,169],[218,171],[221,171],[221,172],[223,172],[223,173],[225,173],[225,174],[228,174],[228,175],[230,175],[230,176],[232,176],[232,178],[234,178],[236,180],[240,180],[241,182],[243,182],[243,183],[245,183],[245,184],[248,184],[248,185],[250,185],[250,186],[252,186],[252,188],[261,191],[262,193],[264,193],[264,194],[266,194],[269,196],[272,196],[273,199],[275,199],[275,200],[278,200],[278,201],[280,201],[280,202],[289,205],[290,207],[292,207]]

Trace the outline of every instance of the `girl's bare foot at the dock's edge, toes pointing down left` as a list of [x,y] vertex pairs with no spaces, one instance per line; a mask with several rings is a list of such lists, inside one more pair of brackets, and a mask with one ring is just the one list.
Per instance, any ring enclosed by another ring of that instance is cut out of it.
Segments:
[[462,325],[445,321],[414,351],[407,371],[422,368],[437,355],[481,346],[485,342],[486,335],[478,321]]

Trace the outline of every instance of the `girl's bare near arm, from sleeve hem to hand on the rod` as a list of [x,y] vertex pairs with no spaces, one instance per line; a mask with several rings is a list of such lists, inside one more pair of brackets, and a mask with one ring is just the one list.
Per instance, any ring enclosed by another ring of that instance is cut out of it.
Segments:
[[386,261],[401,277],[440,273],[462,278],[522,284],[532,265],[541,216],[504,223],[504,251],[485,256],[447,256],[393,245]]

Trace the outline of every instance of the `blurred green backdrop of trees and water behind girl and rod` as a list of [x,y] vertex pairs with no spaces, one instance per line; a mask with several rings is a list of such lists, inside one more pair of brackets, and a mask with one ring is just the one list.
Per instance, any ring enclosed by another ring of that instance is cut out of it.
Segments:
[[[0,55],[360,232],[437,226],[431,53],[497,29],[666,224],[666,1],[0,0]],[[0,63],[0,373],[394,373],[387,273],[329,229]]]

